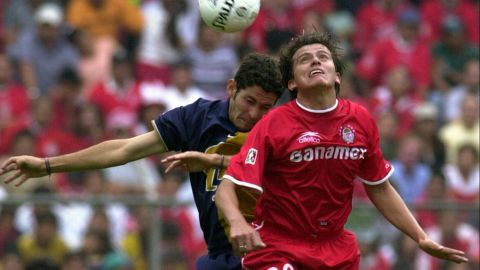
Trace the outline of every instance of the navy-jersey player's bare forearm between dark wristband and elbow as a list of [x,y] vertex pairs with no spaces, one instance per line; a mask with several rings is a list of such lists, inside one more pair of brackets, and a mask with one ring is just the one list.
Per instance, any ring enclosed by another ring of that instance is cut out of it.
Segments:
[[51,171],[83,171],[125,164],[128,160],[126,154],[122,153],[124,144],[124,140],[110,140],[78,152],[50,157]]

